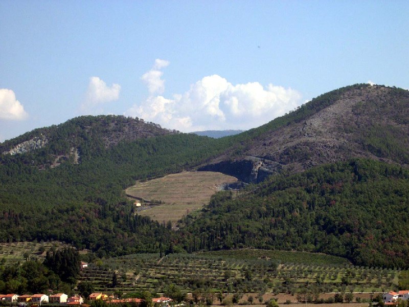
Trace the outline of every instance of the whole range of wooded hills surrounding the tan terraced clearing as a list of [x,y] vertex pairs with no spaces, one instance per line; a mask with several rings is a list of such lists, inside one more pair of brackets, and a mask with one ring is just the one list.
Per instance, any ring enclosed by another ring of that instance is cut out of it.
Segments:
[[[299,249],[408,267],[408,106],[409,91],[356,84],[221,139],[122,116],[35,129],[0,144],[0,241],[56,239],[99,256]],[[195,169],[258,185],[215,196],[178,232],[124,197],[135,180]]]

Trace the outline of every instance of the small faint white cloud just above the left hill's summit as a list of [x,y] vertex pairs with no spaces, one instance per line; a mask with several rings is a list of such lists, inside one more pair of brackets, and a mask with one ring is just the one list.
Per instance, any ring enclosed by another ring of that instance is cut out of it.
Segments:
[[99,77],[91,77],[81,110],[84,112],[93,111],[95,107],[106,102],[118,100],[120,91],[121,85],[119,84],[113,83],[111,86],[107,86]]

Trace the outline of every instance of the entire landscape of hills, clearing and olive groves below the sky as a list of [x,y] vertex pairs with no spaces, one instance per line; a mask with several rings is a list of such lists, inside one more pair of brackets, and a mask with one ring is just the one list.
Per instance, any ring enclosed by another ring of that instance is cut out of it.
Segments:
[[255,304],[408,288],[408,105],[409,91],[354,84],[219,139],[83,116],[1,143],[0,287],[27,289],[18,268],[70,246],[89,266],[41,289]]

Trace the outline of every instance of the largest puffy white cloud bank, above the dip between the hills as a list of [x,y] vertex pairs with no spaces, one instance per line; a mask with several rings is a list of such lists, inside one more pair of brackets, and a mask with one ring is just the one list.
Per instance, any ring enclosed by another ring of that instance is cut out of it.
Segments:
[[[161,67],[168,64],[165,61]],[[157,62],[155,67],[162,77]],[[300,93],[290,88],[272,84],[264,87],[259,82],[234,85],[219,75],[203,77],[184,94],[171,98],[154,95],[157,91],[151,91],[147,85],[150,96],[129,108],[125,115],[186,132],[254,128],[302,103]]]

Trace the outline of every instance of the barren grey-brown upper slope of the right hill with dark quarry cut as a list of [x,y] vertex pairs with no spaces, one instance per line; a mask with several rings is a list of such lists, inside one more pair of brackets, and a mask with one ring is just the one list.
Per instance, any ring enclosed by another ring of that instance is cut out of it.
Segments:
[[260,182],[280,169],[302,171],[350,158],[409,164],[409,91],[356,84],[236,136],[200,170]]

